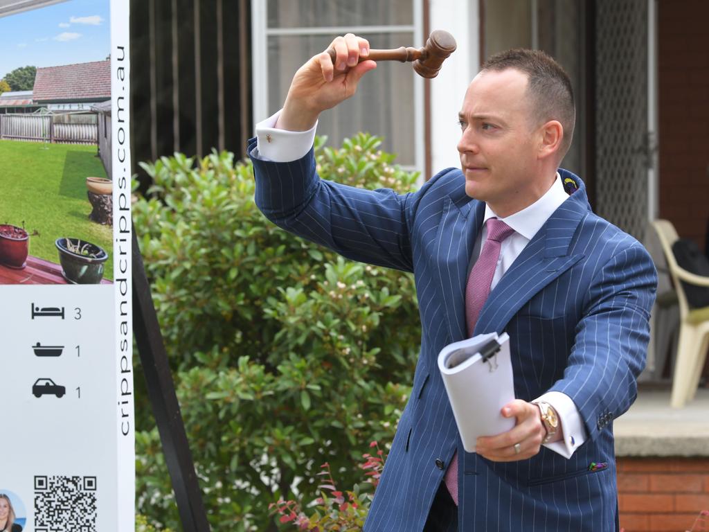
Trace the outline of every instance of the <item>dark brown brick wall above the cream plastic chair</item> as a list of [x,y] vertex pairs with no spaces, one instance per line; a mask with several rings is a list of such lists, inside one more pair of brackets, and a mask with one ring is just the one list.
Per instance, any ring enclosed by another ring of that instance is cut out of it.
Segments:
[[659,209],[705,247],[709,218],[709,1],[658,2]]

